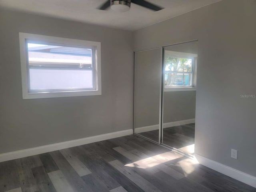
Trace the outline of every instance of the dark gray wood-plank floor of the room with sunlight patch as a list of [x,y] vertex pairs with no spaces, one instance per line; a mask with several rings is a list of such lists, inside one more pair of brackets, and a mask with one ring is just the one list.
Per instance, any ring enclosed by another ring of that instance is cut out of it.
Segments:
[[256,192],[134,135],[0,163],[0,192]]

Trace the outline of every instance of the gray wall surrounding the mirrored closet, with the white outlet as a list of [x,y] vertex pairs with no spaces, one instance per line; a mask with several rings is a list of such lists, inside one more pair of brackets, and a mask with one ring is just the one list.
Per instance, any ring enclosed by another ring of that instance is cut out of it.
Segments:
[[240,95],[256,94],[255,10],[255,0],[223,0],[134,32],[134,50],[199,40],[195,153],[252,176],[256,98]]

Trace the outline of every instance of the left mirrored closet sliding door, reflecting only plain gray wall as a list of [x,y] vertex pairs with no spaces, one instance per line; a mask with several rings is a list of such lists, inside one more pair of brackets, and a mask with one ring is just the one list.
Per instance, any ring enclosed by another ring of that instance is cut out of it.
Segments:
[[160,143],[162,48],[135,53],[134,133]]

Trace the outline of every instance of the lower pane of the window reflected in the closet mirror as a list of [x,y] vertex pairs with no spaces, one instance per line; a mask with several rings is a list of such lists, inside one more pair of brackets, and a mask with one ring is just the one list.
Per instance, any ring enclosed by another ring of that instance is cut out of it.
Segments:
[[165,87],[170,86],[191,86],[191,73],[165,72]]

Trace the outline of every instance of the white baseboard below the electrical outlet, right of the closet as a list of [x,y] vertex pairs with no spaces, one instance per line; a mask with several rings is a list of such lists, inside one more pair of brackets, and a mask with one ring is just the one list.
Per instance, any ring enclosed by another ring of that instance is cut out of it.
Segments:
[[197,154],[195,157],[200,164],[256,188],[256,177]]

